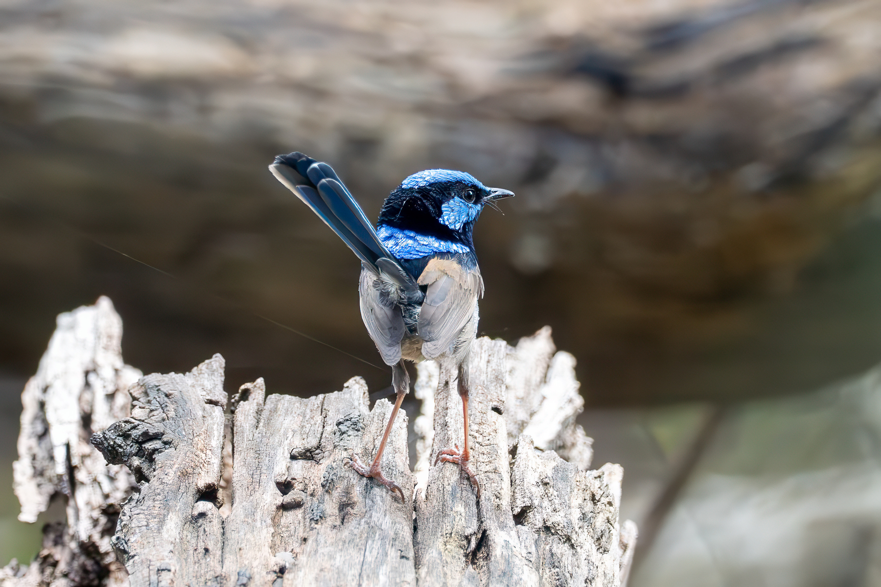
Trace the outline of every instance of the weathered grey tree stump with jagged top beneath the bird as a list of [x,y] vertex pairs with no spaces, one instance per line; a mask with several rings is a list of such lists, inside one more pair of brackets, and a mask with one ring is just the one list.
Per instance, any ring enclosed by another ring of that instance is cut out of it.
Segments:
[[[352,454],[371,458],[391,411],[388,400],[369,409],[363,379],[308,399],[267,397],[258,379],[227,401],[224,360],[215,355],[187,374],[130,385],[138,374],[122,363],[121,327],[107,298],[62,314],[23,393],[15,471],[21,517],[33,521],[66,490],[69,526],[46,533],[31,565],[0,569],[0,584],[626,581],[636,530],[618,524],[622,470],[586,470],[591,441],[574,424],[583,404],[574,358],[555,353],[549,328],[516,348],[488,338],[474,346],[468,368],[479,500],[457,466],[432,466],[462,437],[455,375],[418,365],[424,405],[415,473],[403,413],[383,461],[405,489],[402,503],[347,466]],[[109,465],[99,466],[100,454],[85,444],[90,432]],[[231,504],[223,503],[224,485]]]

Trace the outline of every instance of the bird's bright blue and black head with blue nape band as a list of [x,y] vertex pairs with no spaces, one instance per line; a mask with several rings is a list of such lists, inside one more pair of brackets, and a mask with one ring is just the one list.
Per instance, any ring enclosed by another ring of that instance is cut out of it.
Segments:
[[466,253],[474,250],[471,235],[484,206],[512,195],[507,189],[485,187],[470,173],[413,173],[382,204],[378,233],[401,259]]

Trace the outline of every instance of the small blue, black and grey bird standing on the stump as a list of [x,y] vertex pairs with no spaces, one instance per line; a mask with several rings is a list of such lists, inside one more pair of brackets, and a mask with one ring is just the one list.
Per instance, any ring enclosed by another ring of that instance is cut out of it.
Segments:
[[[410,376],[404,361],[451,363],[462,399],[463,449],[438,452],[434,465],[448,462],[466,474],[480,498],[471,470],[468,398],[463,368],[478,332],[478,298],[484,282],[472,238],[481,210],[514,195],[485,187],[467,172],[428,169],[413,173],[391,191],[376,228],[327,163],[294,151],[278,155],[270,172],[319,216],[361,261],[359,304],[367,333],[392,370],[395,407],[370,466],[352,455],[349,465],[403,501],[403,489],[381,472],[381,458]],[[442,383],[441,383],[442,385]]]

